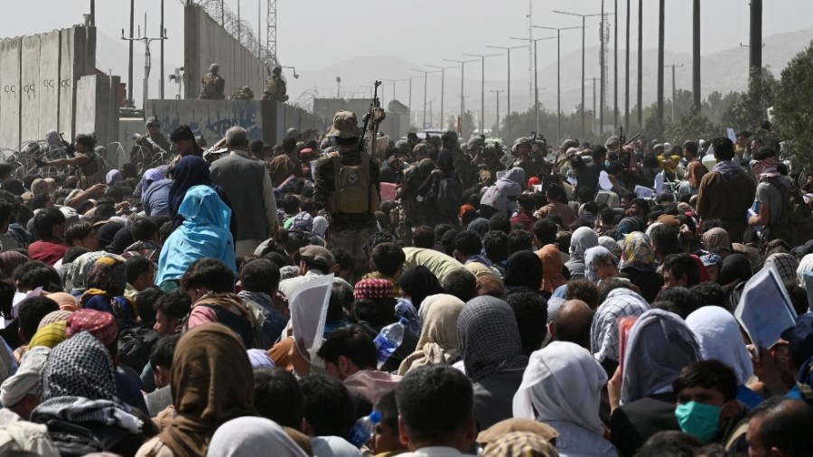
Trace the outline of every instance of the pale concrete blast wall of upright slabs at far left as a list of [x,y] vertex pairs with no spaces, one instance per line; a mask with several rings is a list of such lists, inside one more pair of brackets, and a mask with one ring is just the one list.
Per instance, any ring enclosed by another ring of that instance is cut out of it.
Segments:
[[0,148],[19,149],[51,129],[73,137],[76,83],[95,63],[94,27],[0,41]]

